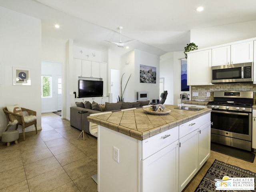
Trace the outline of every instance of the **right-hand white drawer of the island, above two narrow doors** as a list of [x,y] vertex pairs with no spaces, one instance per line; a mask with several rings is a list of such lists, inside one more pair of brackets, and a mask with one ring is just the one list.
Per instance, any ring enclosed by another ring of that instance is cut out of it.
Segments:
[[201,117],[188,121],[179,126],[179,138],[191,133],[192,131],[198,129],[200,126],[206,124],[211,119],[210,113],[207,113]]

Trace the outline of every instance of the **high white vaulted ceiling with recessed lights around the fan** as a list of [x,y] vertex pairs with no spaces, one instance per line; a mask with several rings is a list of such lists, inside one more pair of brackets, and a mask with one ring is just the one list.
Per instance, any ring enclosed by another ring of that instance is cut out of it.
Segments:
[[40,18],[42,38],[72,38],[118,54],[128,50],[104,40],[119,42],[119,26],[123,42],[137,40],[130,48],[162,55],[183,51],[191,29],[256,20],[256,0],[0,0],[0,6]]

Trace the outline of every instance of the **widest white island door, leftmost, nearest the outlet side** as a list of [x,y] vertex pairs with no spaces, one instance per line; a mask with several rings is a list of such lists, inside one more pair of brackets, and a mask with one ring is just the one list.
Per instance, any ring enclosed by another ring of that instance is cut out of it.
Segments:
[[141,160],[142,192],[178,191],[178,141]]

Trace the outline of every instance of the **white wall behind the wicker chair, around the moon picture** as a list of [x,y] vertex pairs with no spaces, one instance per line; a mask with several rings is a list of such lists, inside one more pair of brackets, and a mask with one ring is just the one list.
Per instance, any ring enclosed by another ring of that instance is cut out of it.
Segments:
[[[41,129],[41,20],[0,7],[0,106],[35,110]],[[12,66],[30,68],[31,86],[12,85]],[[0,110],[0,133],[7,126]],[[25,131],[35,130],[34,126]],[[21,128],[19,131],[22,132]]]

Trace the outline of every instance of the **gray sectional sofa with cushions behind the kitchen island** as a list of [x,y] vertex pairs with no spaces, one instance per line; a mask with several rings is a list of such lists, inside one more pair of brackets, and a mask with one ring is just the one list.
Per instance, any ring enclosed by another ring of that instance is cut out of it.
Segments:
[[76,106],[70,107],[70,125],[74,128],[77,128],[82,131],[82,113],[80,111],[88,111],[84,113],[84,132],[90,134],[89,132],[89,122],[87,117],[90,114],[101,113],[105,111],[117,112],[122,109],[128,108],[142,108],[142,106],[148,105],[149,100],[147,101],[137,101],[137,102],[117,102],[117,103],[108,103],[105,105],[98,104],[96,102],[76,102]]

